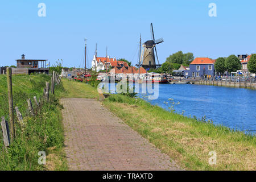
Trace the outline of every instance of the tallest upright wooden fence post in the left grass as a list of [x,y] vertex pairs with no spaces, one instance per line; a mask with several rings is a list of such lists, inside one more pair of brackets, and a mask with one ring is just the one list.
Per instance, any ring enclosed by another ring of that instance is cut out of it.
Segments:
[[13,81],[11,68],[6,68],[7,87],[8,87],[8,100],[9,100],[9,117],[11,125],[11,141],[15,138],[15,123],[13,113]]

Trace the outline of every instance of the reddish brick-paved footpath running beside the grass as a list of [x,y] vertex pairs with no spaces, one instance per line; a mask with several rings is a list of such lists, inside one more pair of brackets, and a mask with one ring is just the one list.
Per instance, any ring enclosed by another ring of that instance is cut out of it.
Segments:
[[100,102],[64,98],[61,104],[70,170],[179,170]]

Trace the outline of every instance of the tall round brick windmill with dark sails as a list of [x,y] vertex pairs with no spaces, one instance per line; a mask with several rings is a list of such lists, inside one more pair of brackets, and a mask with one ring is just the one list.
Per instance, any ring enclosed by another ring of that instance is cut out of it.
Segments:
[[[152,40],[147,40],[147,42],[143,44],[143,50],[142,50],[143,60],[141,57],[139,61],[139,65],[140,65],[142,60],[142,67],[145,69],[160,67],[159,60],[158,60],[158,52],[156,51],[156,45],[164,42],[163,38],[155,40],[152,23],[150,24],[150,31],[151,31]],[[155,55],[156,55],[156,59],[158,60],[158,64],[155,63],[156,62]]]

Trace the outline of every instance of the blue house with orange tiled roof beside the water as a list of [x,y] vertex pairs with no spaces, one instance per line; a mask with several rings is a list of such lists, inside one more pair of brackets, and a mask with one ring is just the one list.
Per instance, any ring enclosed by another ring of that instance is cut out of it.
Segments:
[[203,77],[203,76],[214,76],[215,69],[214,63],[216,60],[212,60],[208,57],[196,57],[195,60],[189,64],[189,77]]

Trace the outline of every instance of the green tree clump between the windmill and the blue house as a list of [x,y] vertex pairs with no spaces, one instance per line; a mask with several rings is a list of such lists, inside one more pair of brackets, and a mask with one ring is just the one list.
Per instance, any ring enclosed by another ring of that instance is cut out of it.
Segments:
[[190,64],[194,59],[193,53],[183,53],[182,51],[173,53],[169,57],[167,57],[167,61],[170,63],[177,63],[177,64]]

